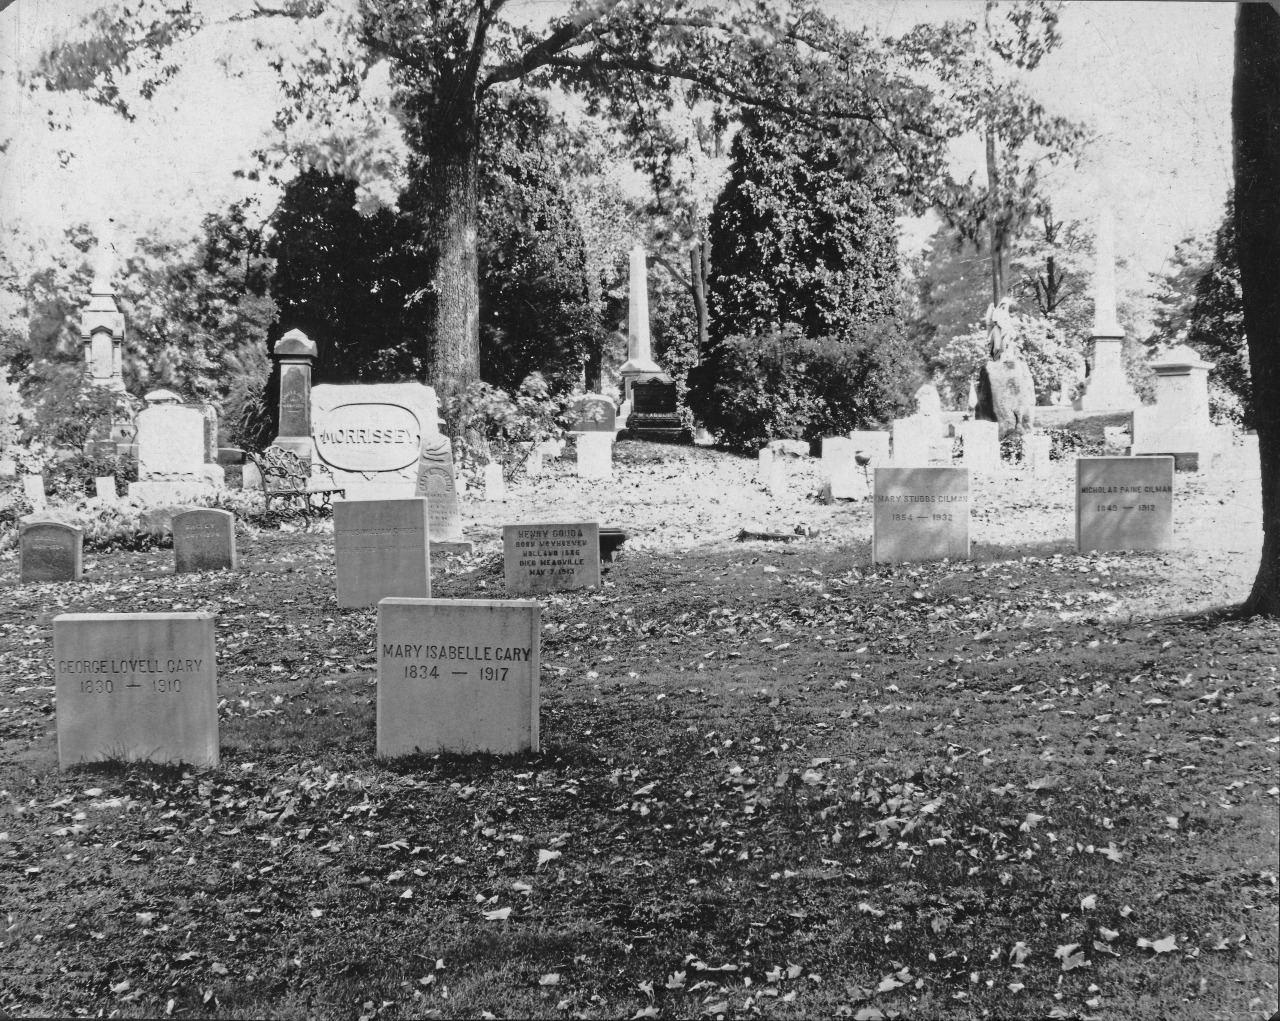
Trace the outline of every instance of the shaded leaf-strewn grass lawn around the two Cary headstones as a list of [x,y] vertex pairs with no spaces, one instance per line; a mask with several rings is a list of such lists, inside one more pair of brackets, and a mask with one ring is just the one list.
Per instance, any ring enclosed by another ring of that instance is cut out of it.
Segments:
[[[865,508],[628,544],[544,600],[512,759],[374,759],[375,612],[337,608],[328,535],[244,535],[237,574],[0,564],[0,1008],[1270,1017],[1280,626],[1203,612],[1203,550],[1043,540],[1020,486],[1034,541],[970,562],[870,567]],[[159,609],[218,613],[221,766],[59,773],[52,617]]]

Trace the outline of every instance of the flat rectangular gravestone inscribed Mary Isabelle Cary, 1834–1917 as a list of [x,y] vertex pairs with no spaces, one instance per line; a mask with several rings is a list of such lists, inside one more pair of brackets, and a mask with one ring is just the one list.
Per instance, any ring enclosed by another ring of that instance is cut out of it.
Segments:
[[378,755],[538,751],[540,632],[538,600],[381,600]]

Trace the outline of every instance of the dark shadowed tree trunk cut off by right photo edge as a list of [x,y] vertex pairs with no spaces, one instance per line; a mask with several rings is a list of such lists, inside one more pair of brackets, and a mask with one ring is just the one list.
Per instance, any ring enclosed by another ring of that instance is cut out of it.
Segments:
[[1280,14],[1235,15],[1235,228],[1262,462],[1262,562],[1247,614],[1280,617]]

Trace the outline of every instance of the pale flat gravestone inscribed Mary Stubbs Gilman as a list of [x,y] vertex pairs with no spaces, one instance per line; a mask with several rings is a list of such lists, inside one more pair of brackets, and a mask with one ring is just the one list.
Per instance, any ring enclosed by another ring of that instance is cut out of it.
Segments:
[[968,468],[877,468],[872,560],[963,559],[969,555]]

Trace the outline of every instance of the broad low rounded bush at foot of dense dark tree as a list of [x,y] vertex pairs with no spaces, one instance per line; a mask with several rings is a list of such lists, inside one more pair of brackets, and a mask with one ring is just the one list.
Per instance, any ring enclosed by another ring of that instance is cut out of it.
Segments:
[[730,336],[689,374],[689,403],[719,441],[755,450],[773,439],[868,429],[910,408],[919,362],[895,320],[841,339],[797,326]]

